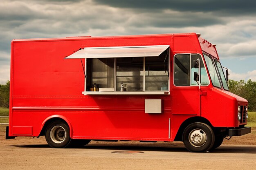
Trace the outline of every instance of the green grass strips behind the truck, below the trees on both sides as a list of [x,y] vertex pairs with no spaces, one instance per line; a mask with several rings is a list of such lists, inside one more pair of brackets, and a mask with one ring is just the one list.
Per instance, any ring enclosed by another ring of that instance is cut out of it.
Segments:
[[[0,116],[9,116],[9,108],[0,108]],[[8,123],[9,118],[0,118],[0,123]],[[249,127],[256,127],[256,112],[248,113],[248,122]]]

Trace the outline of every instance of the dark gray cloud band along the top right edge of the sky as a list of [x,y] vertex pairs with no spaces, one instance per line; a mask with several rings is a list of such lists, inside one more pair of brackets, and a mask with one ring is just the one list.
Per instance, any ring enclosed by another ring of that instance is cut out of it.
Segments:
[[111,7],[133,9],[172,9],[175,11],[256,13],[254,0],[95,0]]

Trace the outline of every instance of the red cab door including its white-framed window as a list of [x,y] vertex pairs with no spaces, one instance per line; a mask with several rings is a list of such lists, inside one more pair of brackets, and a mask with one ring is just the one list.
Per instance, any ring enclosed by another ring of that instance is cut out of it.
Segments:
[[[200,71],[195,60],[200,60]],[[174,56],[174,81],[172,88],[173,115],[200,116],[200,86],[209,85],[209,79],[200,54],[176,54]],[[200,74],[200,82],[194,80]]]

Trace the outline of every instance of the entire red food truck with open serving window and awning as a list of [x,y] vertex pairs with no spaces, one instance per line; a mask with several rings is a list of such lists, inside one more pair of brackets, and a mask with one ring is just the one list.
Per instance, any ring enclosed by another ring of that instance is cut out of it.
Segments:
[[6,138],[49,146],[183,141],[191,152],[251,132],[216,45],[196,33],[11,42]]

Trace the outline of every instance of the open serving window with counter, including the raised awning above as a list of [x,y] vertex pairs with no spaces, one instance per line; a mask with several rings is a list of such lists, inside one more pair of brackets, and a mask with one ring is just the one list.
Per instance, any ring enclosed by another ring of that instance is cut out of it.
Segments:
[[169,45],[85,48],[83,94],[169,94]]

